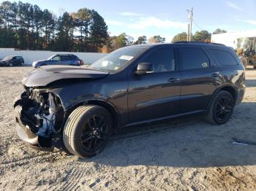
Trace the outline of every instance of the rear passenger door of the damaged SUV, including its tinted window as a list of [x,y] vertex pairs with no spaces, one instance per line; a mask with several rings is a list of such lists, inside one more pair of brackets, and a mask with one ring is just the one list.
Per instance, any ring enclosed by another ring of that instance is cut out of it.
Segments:
[[181,113],[207,109],[221,74],[203,47],[179,47]]

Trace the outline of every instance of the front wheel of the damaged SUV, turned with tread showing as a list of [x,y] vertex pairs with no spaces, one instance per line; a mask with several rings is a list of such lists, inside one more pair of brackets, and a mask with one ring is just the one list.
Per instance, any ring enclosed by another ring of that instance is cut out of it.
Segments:
[[112,117],[101,106],[79,106],[68,117],[63,130],[67,150],[79,157],[97,155],[108,143]]

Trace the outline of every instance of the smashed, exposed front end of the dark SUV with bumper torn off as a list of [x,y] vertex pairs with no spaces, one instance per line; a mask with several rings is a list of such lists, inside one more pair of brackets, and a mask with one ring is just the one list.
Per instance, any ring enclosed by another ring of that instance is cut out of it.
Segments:
[[[50,106],[44,105],[46,101],[50,101]],[[55,124],[53,95],[48,95],[46,101],[43,101],[42,104],[38,103],[32,100],[26,93],[23,93],[15,99],[14,104],[18,136],[27,144],[40,150],[52,148],[53,127]]]

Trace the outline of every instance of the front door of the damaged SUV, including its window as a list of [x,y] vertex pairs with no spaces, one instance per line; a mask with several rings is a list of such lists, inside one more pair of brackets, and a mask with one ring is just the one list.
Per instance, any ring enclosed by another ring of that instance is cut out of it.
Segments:
[[151,74],[129,77],[129,123],[157,120],[179,112],[180,73],[176,71],[174,48],[165,47],[148,52],[138,63],[152,63]]

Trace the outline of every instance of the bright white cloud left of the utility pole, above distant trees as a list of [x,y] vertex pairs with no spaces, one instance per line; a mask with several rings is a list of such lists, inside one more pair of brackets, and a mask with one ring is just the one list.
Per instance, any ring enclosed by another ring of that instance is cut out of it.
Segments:
[[186,29],[187,23],[173,21],[168,19],[159,19],[158,17],[142,17],[138,22],[129,24],[130,28],[146,29],[146,28],[180,28]]

